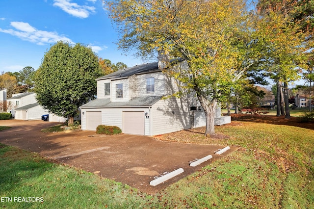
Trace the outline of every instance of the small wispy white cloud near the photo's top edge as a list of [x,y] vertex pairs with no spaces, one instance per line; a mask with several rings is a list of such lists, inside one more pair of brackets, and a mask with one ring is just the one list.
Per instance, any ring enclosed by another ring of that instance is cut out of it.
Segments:
[[96,9],[94,6],[78,5],[77,3],[72,3],[71,0],[54,0],[53,6],[57,6],[66,13],[78,18],[87,18],[90,13],[95,13]]

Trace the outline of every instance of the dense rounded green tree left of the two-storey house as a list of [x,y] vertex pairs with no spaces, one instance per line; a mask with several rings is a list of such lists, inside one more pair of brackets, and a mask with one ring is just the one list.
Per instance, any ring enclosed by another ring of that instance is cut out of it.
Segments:
[[78,107],[95,99],[96,78],[100,77],[95,53],[81,44],[57,42],[45,53],[35,74],[39,104],[73,125]]

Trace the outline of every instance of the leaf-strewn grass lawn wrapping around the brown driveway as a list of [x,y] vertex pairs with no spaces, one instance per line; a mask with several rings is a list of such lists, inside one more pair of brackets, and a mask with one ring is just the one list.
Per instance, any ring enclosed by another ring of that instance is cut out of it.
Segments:
[[[210,139],[186,131],[193,143],[236,146],[238,150],[156,195],[0,145],[0,207],[314,208],[314,131],[253,122],[241,124],[216,127],[217,133],[229,135],[229,139]],[[11,197],[12,202],[4,197]],[[14,202],[14,197],[42,199]]]

